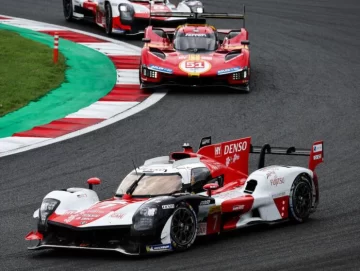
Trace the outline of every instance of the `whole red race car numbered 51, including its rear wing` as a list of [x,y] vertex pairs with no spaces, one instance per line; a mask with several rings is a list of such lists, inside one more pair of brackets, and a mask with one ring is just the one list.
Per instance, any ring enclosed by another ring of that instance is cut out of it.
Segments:
[[[172,13],[187,17],[177,28],[148,26],[141,52],[141,88],[226,86],[249,92],[250,51],[243,14]],[[154,13],[152,17],[166,16]],[[168,15],[169,16],[169,15]],[[207,18],[240,19],[240,29],[216,29]],[[219,34],[225,35],[223,39]]]

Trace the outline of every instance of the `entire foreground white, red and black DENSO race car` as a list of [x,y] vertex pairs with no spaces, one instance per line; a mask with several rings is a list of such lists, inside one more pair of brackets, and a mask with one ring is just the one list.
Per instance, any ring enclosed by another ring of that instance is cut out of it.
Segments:
[[[259,154],[248,173],[249,154]],[[266,154],[309,156],[309,166],[264,165]],[[253,146],[251,138],[212,144],[194,152],[156,157],[132,170],[113,197],[100,201],[89,188],[47,194],[35,211],[37,230],[29,249],[69,248],[139,255],[188,249],[199,236],[292,220],[304,222],[319,203],[315,168],[323,162],[323,141],[311,149]]]

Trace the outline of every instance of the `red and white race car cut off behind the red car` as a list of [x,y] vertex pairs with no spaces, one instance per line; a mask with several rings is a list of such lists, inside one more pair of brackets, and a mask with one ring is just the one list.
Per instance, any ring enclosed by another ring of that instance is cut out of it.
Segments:
[[[171,17],[172,12],[203,12],[198,0],[182,0],[177,6],[169,0],[63,0],[67,21],[85,19],[112,33],[136,35],[153,25],[177,26],[186,18]],[[166,17],[150,18],[151,12],[165,12]],[[170,16],[169,16],[170,14]],[[151,19],[151,20],[150,20]]]

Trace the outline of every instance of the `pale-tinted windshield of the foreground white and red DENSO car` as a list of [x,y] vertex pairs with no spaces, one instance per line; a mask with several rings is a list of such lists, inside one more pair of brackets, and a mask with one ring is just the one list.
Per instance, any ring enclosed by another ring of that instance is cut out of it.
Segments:
[[[124,195],[129,187],[141,177],[141,174],[130,173],[121,182],[116,195]],[[179,174],[145,174],[132,192],[133,196],[169,195],[180,192],[182,188]]]

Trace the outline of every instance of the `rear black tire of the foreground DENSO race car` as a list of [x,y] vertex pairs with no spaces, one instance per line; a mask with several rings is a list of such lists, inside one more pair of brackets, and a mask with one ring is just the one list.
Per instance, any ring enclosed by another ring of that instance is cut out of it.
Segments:
[[305,222],[311,213],[313,195],[311,181],[306,175],[295,178],[289,196],[289,217],[297,223]]

